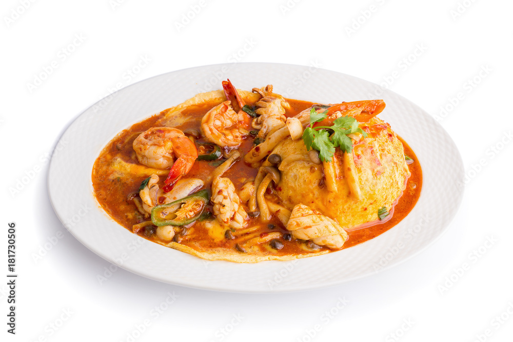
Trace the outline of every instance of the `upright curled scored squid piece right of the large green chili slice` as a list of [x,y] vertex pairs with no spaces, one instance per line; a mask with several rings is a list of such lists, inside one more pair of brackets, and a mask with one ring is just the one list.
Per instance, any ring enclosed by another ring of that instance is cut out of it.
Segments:
[[234,229],[245,228],[249,216],[242,207],[241,199],[229,178],[215,177],[212,180],[212,197],[215,218],[222,226]]

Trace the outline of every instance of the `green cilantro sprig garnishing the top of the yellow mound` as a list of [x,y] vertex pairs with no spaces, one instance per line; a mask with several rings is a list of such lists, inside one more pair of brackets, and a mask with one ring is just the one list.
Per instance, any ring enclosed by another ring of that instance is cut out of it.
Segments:
[[327,110],[318,113],[314,108],[310,109],[310,125],[303,131],[303,141],[307,151],[311,149],[319,151],[319,158],[323,162],[331,162],[336,147],[340,147],[347,153],[352,152],[352,140],[347,134],[362,133],[364,137],[367,136],[367,133],[358,127],[358,121],[350,116],[341,116],[335,119],[333,126],[313,128],[314,123],[321,122],[328,117],[327,113]]

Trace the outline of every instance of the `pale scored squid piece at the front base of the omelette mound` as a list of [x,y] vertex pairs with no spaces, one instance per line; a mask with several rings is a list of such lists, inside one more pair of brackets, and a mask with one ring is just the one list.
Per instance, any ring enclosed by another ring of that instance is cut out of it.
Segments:
[[331,249],[342,248],[349,238],[347,232],[336,221],[303,204],[298,204],[292,209],[287,230],[295,238],[311,239],[313,243]]

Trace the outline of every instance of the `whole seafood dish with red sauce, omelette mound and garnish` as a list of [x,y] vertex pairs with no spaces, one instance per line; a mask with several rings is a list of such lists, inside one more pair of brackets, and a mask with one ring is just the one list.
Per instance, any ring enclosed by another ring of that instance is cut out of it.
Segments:
[[383,100],[221,86],[121,131],[97,157],[98,205],[131,233],[208,260],[290,260],[364,243],[417,203],[421,166],[377,116]]

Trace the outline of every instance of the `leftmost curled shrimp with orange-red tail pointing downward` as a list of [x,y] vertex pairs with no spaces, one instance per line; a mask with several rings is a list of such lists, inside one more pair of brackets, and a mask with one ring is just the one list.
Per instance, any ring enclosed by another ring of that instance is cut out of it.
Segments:
[[194,143],[181,130],[170,127],[152,127],[141,133],[133,141],[133,149],[139,163],[155,169],[171,168],[164,182],[165,192],[190,171],[198,158]]

